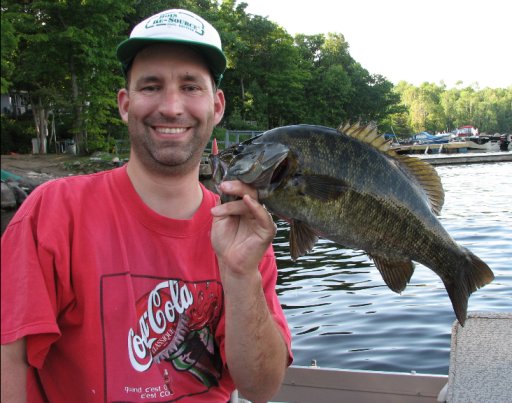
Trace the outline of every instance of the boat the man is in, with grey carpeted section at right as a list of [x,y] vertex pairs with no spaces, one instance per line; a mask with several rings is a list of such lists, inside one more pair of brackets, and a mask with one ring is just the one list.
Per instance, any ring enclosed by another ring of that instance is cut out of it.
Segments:
[[[448,375],[291,366],[272,402],[512,402],[511,312],[471,312],[452,326]],[[477,376],[475,376],[477,374]],[[235,391],[230,403],[246,403]]]

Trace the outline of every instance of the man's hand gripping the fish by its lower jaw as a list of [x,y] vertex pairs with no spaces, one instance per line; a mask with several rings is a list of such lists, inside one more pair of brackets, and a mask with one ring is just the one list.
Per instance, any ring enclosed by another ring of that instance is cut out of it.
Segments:
[[221,190],[240,200],[220,204],[212,209],[212,245],[223,275],[254,274],[272,243],[276,225],[265,208],[257,202],[258,192],[240,182],[223,182]]

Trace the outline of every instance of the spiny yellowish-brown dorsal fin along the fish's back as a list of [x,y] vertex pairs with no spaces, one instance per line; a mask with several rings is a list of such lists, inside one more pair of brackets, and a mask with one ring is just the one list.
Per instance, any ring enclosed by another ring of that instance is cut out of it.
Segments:
[[388,157],[396,160],[419,184],[428,199],[432,212],[439,215],[444,204],[444,191],[441,179],[434,167],[419,158],[410,157],[408,155],[398,155],[391,149],[390,142],[386,141],[382,134],[377,134],[377,126],[375,123],[370,122],[364,126],[360,126],[359,123],[360,121],[357,121],[353,125],[350,125],[349,120],[338,127],[338,133],[349,136],[381,154],[386,154]]

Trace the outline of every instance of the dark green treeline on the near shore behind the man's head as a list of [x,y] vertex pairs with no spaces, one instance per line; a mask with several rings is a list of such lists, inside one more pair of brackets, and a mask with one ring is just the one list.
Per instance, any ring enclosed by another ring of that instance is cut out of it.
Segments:
[[294,38],[235,0],[2,1],[2,93],[26,91],[37,137],[56,127],[88,151],[108,147],[109,137],[126,133],[115,101],[124,85],[115,49],[137,23],[169,8],[196,12],[222,37],[225,128],[337,126],[398,111],[393,84],[357,63],[343,35]]

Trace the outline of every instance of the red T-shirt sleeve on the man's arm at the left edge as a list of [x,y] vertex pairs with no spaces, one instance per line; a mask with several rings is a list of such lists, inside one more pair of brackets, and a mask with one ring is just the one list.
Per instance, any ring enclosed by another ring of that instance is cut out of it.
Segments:
[[60,330],[54,257],[38,240],[38,195],[24,202],[2,236],[1,343],[26,337],[28,362],[41,368]]

